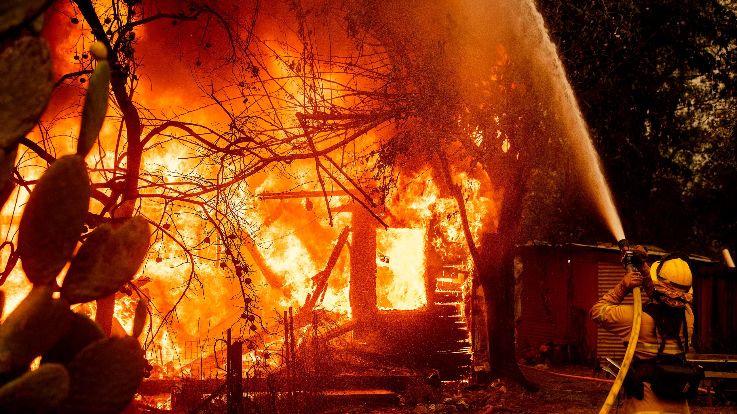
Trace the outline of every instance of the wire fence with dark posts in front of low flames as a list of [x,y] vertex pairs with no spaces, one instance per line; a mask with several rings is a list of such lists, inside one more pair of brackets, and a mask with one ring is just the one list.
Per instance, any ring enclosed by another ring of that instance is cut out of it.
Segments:
[[150,379],[163,380],[150,382],[136,404],[149,411],[200,414],[223,413],[226,407],[244,414],[323,412],[324,393],[346,362],[336,357],[336,345],[346,346],[349,331],[340,329],[332,314],[318,311],[310,329],[290,329],[290,339],[279,334],[287,329],[259,344],[231,338],[231,359],[241,356],[231,361],[231,371],[239,367],[241,375],[226,373],[228,345],[222,339],[162,341],[147,348]]

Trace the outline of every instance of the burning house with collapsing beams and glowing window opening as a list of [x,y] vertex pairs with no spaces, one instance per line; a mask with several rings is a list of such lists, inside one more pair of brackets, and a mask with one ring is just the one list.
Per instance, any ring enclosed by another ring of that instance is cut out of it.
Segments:
[[[254,211],[260,209],[268,225],[261,239],[272,242],[244,244],[241,253],[253,263],[251,278],[265,292],[262,301],[273,306],[264,306],[262,315],[274,322],[267,325],[266,335],[233,334],[233,340],[243,343],[246,376],[261,365],[287,361],[289,339],[281,325],[287,317],[279,317],[288,307],[295,311],[298,345],[309,341],[312,328],[304,326],[315,315],[327,315],[335,327],[325,336],[349,335],[350,352],[357,357],[430,368],[443,380],[467,377],[472,365],[467,295],[472,264],[458,231],[455,200],[442,196],[443,186],[432,171],[370,210],[351,194],[330,192],[333,226],[315,220],[316,214],[326,214],[323,192],[279,192],[283,183],[268,185],[265,181],[259,189]],[[481,231],[483,221],[493,217],[493,195],[483,191],[477,178],[466,178],[465,186],[469,219],[474,231]],[[240,317],[237,312],[213,323],[210,336]],[[150,351],[154,369],[140,390],[144,395],[166,394],[183,375],[217,379],[217,361],[222,365],[227,357],[226,341],[217,345],[183,337],[187,334],[158,341]],[[265,352],[270,358],[263,357]]]

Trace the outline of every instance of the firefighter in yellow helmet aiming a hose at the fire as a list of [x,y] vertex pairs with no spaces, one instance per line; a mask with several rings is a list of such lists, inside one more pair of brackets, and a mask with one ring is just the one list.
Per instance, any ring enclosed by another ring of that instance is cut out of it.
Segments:
[[698,365],[685,360],[694,331],[688,256],[670,253],[651,268],[644,248],[632,250],[639,272],[627,273],[590,312],[595,323],[621,337],[626,347],[634,309],[622,305],[622,300],[638,286],[649,298],[643,304],[635,358],[623,384],[622,412],[688,414],[687,399],[695,396],[703,374]]

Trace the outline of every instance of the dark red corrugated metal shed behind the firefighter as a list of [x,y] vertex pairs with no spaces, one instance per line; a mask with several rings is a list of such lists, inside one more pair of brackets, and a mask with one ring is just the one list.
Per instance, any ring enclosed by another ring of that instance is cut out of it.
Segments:
[[[646,245],[649,263],[665,251]],[[599,328],[588,317],[591,306],[624,276],[621,253],[615,245],[550,245],[544,242],[517,246],[523,262],[517,322],[517,346],[536,347],[580,342],[589,357],[621,357],[621,338]],[[719,261],[691,257],[694,273],[694,346],[700,351],[726,352],[737,348],[737,272],[724,270]],[[632,295],[624,304],[633,304]],[[581,324],[581,318],[583,323]],[[581,326],[583,325],[583,326]],[[590,352],[589,352],[590,351]]]

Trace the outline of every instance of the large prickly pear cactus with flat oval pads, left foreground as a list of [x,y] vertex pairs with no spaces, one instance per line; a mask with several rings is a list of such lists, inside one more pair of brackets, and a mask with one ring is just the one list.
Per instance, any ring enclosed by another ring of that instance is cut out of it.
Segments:
[[[0,35],[27,24],[41,13],[34,7],[48,3],[13,0],[0,6]],[[88,83],[77,153],[59,158],[41,176],[18,228],[18,255],[33,287],[0,325],[0,413],[120,413],[144,376],[147,362],[138,337],[147,315],[145,299],[130,337],[108,338],[97,323],[69,308],[111,295],[130,281],[150,243],[149,225],[141,217],[82,234],[90,197],[84,158],[105,118],[110,79],[105,46],[97,43],[91,53],[98,64]],[[49,45],[35,36],[18,39],[0,56],[0,206],[7,200],[2,197],[18,141],[49,101],[50,56]],[[58,287],[56,278],[68,263]],[[0,291],[0,315],[3,304]],[[41,365],[31,371],[37,357]]]

